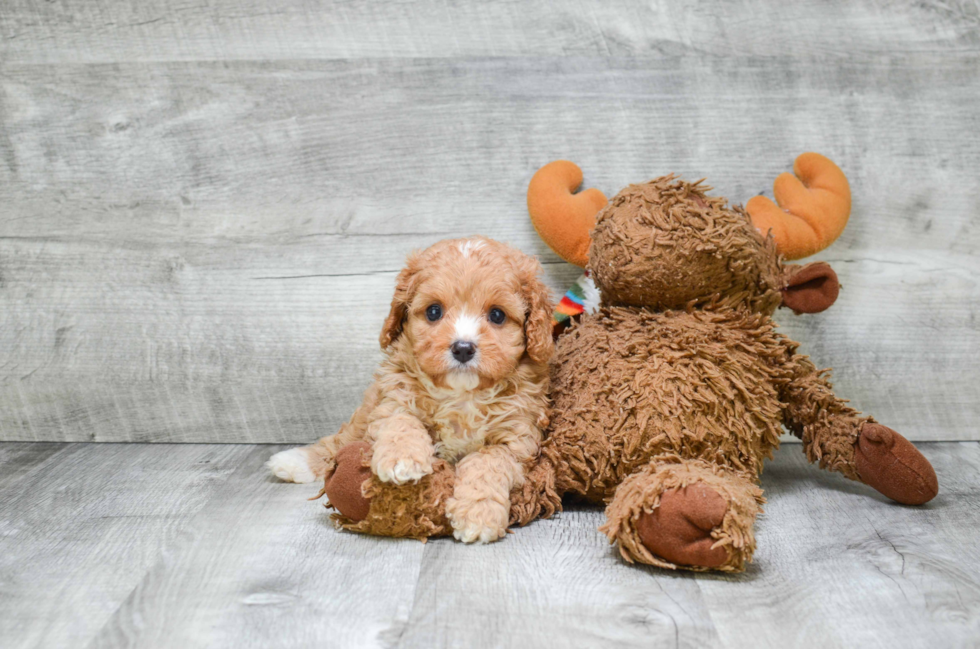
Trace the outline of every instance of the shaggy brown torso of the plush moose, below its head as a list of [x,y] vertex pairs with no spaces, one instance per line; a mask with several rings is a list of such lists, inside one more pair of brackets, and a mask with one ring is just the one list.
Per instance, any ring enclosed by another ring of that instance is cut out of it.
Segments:
[[602,502],[676,453],[758,473],[782,433],[784,339],[745,310],[605,307],[558,342],[542,452],[559,490]]

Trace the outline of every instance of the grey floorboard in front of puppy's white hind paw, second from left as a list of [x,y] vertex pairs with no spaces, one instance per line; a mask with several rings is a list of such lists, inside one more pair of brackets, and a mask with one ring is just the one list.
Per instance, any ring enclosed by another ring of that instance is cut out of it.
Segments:
[[[309,489],[253,447],[93,647],[390,646],[408,619],[422,543],[341,533]],[[292,488],[289,488],[292,487]],[[313,493],[316,493],[315,490]]]

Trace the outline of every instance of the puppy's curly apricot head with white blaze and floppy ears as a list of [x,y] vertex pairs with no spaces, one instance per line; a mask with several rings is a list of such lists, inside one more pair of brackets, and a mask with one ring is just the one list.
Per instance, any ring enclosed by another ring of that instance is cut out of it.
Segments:
[[413,253],[396,280],[381,347],[402,348],[439,387],[472,390],[554,353],[552,304],[540,264],[473,237]]

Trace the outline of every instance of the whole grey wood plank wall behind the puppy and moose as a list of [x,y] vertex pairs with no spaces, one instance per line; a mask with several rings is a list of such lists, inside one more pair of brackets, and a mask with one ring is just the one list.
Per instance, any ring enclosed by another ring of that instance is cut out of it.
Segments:
[[976,2],[0,4],[0,439],[306,441],[357,404],[413,248],[538,240],[533,172],[742,202],[851,179],[785,332],[913,439],[977,439]]

